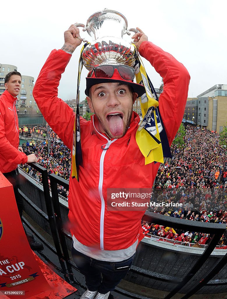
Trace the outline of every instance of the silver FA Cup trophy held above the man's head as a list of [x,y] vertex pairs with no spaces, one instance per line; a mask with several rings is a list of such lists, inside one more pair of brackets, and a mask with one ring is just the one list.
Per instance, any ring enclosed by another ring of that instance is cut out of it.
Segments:
[[[101,10],[94,13],[87,20],[87,25],[76,23],[76,27],[83,27],[91,36],[91,42],[82,52],[84,66],[91,70],[97,65],[123,64],[133,67],[136,54],[134,46],[123,39],[124,35],[139,32],[131,28],[127,30],[126,18],[114,10]],[[82,35],[82,34],[81,34]],[[85,39],[83,42],[88,42]]]

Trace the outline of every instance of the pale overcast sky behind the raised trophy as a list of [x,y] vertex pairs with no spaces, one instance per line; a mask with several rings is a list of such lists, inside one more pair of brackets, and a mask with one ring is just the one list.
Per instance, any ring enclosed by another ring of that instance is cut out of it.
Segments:
[[[215,84],[227,84],[225,0],[131,0],[109,1],[109,4],[90,0],[4,1],[0,17],[0,63],[16,65],[22,75],[36,80],[50,51],[64,44],[64,31],[76,22],[86,25],[89,16],[106,7],[122,13],[128,20],[128,29],[141,28],[149,41],[186,66],[191,76],[189,97],[196,97]],[[90,37],[82,30],[81,36],[88,40]],[[131,40],[130,36],[126,39]],[[81,48],[73,53],[62,75],[58,94],[63,100],[76,97]],[[143,61],[158,88],[160,75]],[[87,72],[83,68],[81,100],[85,98],[83,78]]]

